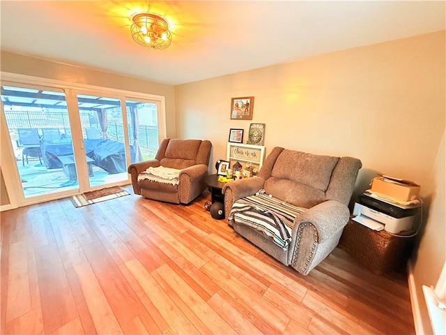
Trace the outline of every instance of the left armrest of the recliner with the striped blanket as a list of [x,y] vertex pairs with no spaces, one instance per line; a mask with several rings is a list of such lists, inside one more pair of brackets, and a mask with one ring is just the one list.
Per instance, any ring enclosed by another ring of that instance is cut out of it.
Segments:
[[222,188],[222,193],[224,194],[224,216],[226,219],[234,202],[248,195],[256,194],[263,187],[264,183],[265,179],[261,177],[239,179],[226,183]]

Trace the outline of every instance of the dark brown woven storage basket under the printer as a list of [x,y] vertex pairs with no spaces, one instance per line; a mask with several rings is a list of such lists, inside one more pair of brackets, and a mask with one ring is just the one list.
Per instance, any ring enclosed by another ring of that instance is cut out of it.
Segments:
[[415,235],[398,237],[385,230],[377,232],[355,221],[348,221],[339,241],[346,251],[376,274],[405,269],[413,250]]

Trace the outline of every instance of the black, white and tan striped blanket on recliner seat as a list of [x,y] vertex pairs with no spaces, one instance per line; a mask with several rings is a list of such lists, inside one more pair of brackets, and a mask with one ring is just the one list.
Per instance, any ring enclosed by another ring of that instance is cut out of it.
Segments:
[[228,221],[229,224],[236,222],[259,230],[277,246],[286,249],[291,241],[294,219],[303,211],[305,208],[259,192],[234,202]]

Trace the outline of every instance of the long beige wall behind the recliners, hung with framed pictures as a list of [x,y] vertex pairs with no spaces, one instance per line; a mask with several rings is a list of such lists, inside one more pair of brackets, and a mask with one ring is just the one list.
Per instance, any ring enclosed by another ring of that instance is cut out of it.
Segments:
[[[267,154],[282,146],[360,158],[355,194],[378,173],[417,182],[425,213],[443,213],[443,220],[429,220],[415,263],[420,288],[436,282],[445,262],[445,234],[435,234],[445,231],[445,202],[429,209],[444,186],[436,183],[445,161],[437,161],[439,172],[433,167],[445,129],[445,89],[440,31],[180,85],[177,135],[211,140],[214,163],[226,157],[229,128],[244,128],[246,141],[250,122],[265,123]],[[240,96],[254,96],[252,121],[229,117],[231,98]],[[421,274],[421,264],[431,271]]]

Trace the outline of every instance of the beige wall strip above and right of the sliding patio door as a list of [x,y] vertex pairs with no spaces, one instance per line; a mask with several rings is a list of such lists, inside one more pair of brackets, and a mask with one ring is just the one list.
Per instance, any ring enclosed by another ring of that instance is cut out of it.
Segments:
[[[62,80],[77,84],[88,84],[98,87],[112,89],[123,89],[125,91],[142,92],[164,96],[166,101],[166,124],[167,136],[175,137],[175,98],[174,87],[156,82],[148,82],[137,78],[106,73],[99,70],[70,66],[55,61],[48,61],[34,57],[27,57],[11,52],[1,52],[1,71],[7,73],[17,73],[20,75],[31,75],[52,80]],[[5,176],[6,177],[6,176]],[[8,194],[0,180],[1,205],[9,204]]]

